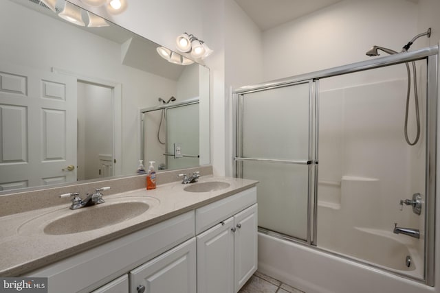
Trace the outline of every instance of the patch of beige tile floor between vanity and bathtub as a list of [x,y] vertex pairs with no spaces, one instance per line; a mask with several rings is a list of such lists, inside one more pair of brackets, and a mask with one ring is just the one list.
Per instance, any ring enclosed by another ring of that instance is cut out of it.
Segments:
[[241,288],[239,293],[305,293],[285,283],[281,283],[261,272],[255,274]]

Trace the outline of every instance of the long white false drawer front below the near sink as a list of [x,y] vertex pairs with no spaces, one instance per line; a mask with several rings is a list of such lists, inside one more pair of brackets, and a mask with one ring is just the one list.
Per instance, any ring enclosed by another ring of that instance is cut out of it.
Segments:
[[48,292],[90,292],[194,237],[194,211],[27,274],[47,277]]

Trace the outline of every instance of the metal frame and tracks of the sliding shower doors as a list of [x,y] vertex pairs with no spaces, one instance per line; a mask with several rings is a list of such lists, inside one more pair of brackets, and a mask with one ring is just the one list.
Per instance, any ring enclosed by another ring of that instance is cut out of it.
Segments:
[[[254,86],[243,86],[239,89],[233,91],[234,99],[234,169],[236,170],[236,177],[242,177],[242,162],[246,160],[252,161],[265,161],[261,159],[243,158],[242,148],[243,141],[241,132],[242,122],[240,119],[243,117],[243,95],[247,93],[252,93],[255,91],[264,91],[268,89],[274,89],[281,86],[291,86],[294,84],[305,83],[309,81],[311,97],[314,97],[314,101],[311,102],[314,106],[311,106],[309,110],[314,113],[309,116],[312,121],[309,122],[309,159],[310,154],[313,154],[313,158],[306,163],[314,167],[314,183],[311,183],[310,174],[311,169],[309,167],[309,204],[307,210],[307,241],[304,242],[300,239],[292,239],[286,235],[281,235],[279,233],[274,233],[272,231],[267,231],[263,229],[259,231],[267,233],[273,237],[278,237],[281,239],[288,239],[298,242],[300,244],[306,244],[309,246],[314,246],[314,248],[322,250],[329,253],[327,250],[316,247],[316,236],[317,236],[317,206],[318,206],[318,95],[319,95],[319,80],[322,78],[329,78],[332,76],[345,75],[348,73],[355,73],[360,71],[366,71],[369,69],[377,69],[380,67],[388,67],[391,65],[398,65],[401,63],[417,61],[426,59],[427,64],[427,82],[426,82],[426,178],[425,178],[425,255],[424,255],[424,279],[412,278],[407,274],[399,274],[401,277],[408,279],[414,279],[415,281],[422,281],[426,285],[434,286],[434,253],[435,253],[435,204],[436,204],[436,178],[437,178],[437,97],[438,97],[438,67],[439,67],[439,46],[435,45],[432,47],[426,47],[423,49],[418,49],[415,51],[407,51],[404,53],[394,54],[391,56],[384,56],[380,58],[375,58],[371,60],[366,60],[362,62],[356,62],[349,65],[343,65],[340,67],[333,67],[331,69],[325,69],[322,71],[315,71],[311,73],[306,73],[303,75],[296,75],[291,78],[283,78],[280,80],[274,80],[272,82],[266,82],[262,84],[256,84]],[[240,112],[241,111],[241,112]],[[310,115],[310,113],[309,113]],[[313,151],[311,151],[313,150]],[[267,160],[266,160],[267,161]],[[272,160],[274,161],[274,160]],[[297,162],[304,163],[304,162]],[[311,196],[311,189],[313,189],[313,196]],[[347,259],[351,259],[347,257]],[[360,261],[361,263],[364,263]],[[369,265],[368,263],[364,263]],[[373,266],[373,265],[369,265]],[[375,266],[373,266],[375,267]],[[382,269],[383,270],[383,269]]]

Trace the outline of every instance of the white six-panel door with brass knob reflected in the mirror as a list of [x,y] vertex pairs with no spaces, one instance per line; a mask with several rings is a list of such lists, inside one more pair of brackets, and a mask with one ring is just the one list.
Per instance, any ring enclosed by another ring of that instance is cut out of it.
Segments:
[[0,190],[76,181],[76,114],[76,78],[0,65]]

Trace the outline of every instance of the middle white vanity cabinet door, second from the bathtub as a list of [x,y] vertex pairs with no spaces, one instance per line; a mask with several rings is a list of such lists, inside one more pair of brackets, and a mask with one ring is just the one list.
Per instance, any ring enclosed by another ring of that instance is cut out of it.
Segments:
[[197,293],[234,290],[234,218],[197,236]]

